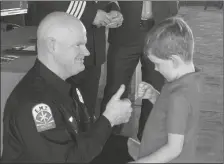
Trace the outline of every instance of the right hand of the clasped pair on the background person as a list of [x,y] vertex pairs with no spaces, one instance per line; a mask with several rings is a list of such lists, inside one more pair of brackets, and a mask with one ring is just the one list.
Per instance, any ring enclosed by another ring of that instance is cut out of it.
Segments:
[[120,27],[123,23],[123,16],[119,11],[111,11],[108,13],[108,16],[110,18],[110,23],[107,24],[106,27],[108,28],[117,28]]

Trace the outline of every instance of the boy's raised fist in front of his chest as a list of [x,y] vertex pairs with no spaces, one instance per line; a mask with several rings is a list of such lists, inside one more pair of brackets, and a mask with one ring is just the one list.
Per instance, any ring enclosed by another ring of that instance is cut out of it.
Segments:
[[149,99],[153,104],[156,102],[159,92],[146,82],[138,85],[138,98]]

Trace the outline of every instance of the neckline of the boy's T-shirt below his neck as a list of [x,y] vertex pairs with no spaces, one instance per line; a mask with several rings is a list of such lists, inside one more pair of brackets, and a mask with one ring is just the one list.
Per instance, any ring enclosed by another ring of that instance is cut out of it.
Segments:
[[179,79],[176,79],[172,82],[167,82],[167,85],[169,85],[169,89],[172,90],[179,85],[194,86],[195,84],[200,83],[200,79],[201,79],[201,70],[198,67],[195,67],[195,72],[183,75]]

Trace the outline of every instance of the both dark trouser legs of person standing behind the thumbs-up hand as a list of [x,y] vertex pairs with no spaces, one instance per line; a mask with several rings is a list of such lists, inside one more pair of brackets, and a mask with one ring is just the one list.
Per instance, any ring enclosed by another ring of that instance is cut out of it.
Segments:
[[[139,59],[142,63],[142,80],[149,82],[160,91],[164,82],[163,77],[154,70],[154,64],[150,62],[148,58],[143,56],[139,47],[118,47],[110,45],[107,60],[107,82],[104,89],[104,98],[101,103],[101,114],[105,110],[107,102],[113,94],[116,93],[121,84],[126,86],[126,90],[122,95],[122,98],[128,97],[127,88],[130,84]],[[142,131],[151,109],[152,104],[148,100],[143,100],[140,116],[141,118],[139,120],[139,139],[141,139]],[[114,129],[115,133],[119,133],[122,126],[117,126]]]

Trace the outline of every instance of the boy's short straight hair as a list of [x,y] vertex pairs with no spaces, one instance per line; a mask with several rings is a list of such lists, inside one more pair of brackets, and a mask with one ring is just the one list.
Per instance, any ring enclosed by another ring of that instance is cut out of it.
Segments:
[[162,21],[147,34],[144,53],[163,60],[178,55],[184,62],[192,61],[194,37],[191,28],[180,17]]

